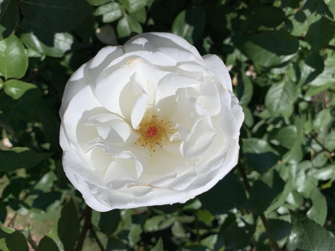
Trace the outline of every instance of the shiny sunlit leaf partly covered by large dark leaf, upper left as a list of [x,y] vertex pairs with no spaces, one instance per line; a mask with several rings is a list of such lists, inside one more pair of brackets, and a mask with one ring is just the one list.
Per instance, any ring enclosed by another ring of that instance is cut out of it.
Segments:
[[32,32],[23,33],[21,39],[24,45],[29,49],[51,57],[62,57],[65,52],[71,50],[74,43],[73,36],[67,32],[53,34],[52,46],[44,44]]

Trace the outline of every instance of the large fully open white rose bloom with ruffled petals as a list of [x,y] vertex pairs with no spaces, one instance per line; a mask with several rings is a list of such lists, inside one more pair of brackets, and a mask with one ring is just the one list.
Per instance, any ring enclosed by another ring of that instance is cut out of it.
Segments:
[[244,118],[221,59],[156,32],[82,65],[60,115],[64,171],[100,212],[207,191],[237,164]]

